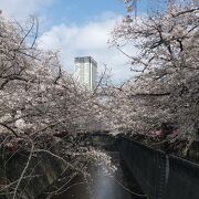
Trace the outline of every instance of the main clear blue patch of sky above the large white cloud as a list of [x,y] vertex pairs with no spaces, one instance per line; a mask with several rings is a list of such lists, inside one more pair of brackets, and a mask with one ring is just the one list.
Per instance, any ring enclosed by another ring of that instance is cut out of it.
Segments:
[[48,15],[55,23],[86,23],[103,12],[124,13],[125,8],[119,0],[57,0],[48,10]]

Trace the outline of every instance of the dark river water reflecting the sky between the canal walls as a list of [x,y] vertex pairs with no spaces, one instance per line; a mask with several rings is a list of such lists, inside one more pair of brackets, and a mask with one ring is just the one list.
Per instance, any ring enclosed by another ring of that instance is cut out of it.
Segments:
[[[105,166],[103,166],[103,169],[102,166],[101,168],[92,169],[92,181],[86,184],[82,177],[77,177],[71,182],[70,188],[65,188],[64,192],[53,196],[51,199],[142,199],[142,197],[132,195],[129,191],[126,179],[130,178],[130,176],[128,171],[126,172],[127,169],[124,169],[121,165],[118,153],[109,151],[108,156],[112,157],[112,161],[117,167],[114,175],[108,176],[106,174],[108,168],[104,168]],[[42,199],[49,198],[42,197]]]

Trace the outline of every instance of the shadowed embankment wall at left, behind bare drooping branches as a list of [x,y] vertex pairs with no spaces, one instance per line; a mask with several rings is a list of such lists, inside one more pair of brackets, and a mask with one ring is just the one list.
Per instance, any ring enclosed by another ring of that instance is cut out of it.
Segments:
[[[0,153],[0,199],[12,198],[14,187],[23,174],[23,169],[28,166],[29,155],[28,151]],[[65,169],[66,165],[62,160],[46,153],[32,155],[28,169],[19,184],[15,198],[34,199],[52,185]]]

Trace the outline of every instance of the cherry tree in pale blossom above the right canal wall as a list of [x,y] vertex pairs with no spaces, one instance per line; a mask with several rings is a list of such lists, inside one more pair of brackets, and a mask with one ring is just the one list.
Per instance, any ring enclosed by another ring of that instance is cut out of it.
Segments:
[[[147,134],[170,124],[192,143],[199,123],[198,10],[195,1],[172,2],[161,13],[129,18],[115,28],[112,44],[129,57],[135,74],[112,87],[116,128]],[[123,50],[126,43],[136,55]]]

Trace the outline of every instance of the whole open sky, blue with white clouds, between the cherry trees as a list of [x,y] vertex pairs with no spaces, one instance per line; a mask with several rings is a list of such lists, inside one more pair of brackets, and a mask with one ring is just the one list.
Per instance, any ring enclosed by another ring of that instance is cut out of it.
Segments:
[[[147,12],[151,1],[142,0],[139,13]],[[163,0],[161,0],[163,1]],[[40,21],[39,46],[59,51],[63,66],[73,73],[75,56],[92,55],[98,71],[107,64],[116,82],[128,78],[129,60],[107,41],[111,31],[125,14],[123,0],[0,0],[3,17],[24,21],[36,14]],[[126,48],[126,52],[136,53]]]

